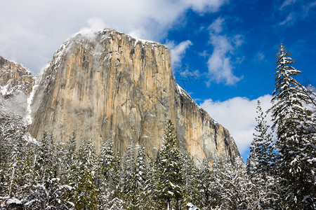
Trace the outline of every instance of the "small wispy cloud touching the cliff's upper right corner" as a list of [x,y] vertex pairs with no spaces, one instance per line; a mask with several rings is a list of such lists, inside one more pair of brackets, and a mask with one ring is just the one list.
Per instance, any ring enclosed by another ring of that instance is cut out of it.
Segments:
[[178,45],[175,45],[173,41],[168,41],[167,43],[165,43],[165,45],[170,50],[171,64],[173,66],[173,69],[176,69],[178,66],[181,65],[181,59],[185,55],[185,50],[187,50],[187,48],[192,45],[192,42],[190,40],[187,40],[179,43]]

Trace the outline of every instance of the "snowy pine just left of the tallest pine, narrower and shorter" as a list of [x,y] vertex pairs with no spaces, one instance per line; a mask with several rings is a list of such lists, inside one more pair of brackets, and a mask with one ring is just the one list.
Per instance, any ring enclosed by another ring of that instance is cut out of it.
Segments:
[[262,111],[260,101],[258,101],[256,112],[258,113],[256,117],[258,124],[255,127],[254,140],[251,142],[246,169],[250,176],[260,174],[265,177],[272,171],[272,162],[274,161],[272,134],[268,132],[269,126],[266,125],[266,114]]

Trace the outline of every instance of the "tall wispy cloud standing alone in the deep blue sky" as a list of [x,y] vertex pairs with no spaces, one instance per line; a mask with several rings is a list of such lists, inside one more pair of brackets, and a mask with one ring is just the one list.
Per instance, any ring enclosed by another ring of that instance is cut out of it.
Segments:
[[242,79],[242,77],[237,77],[232,72],[233,66],[230,58],[234,50],[239,45],[242,45],[242,36],[235,35],[228,37],[220,34],[223,31],[223,22],[222,18],[218,18],[209,26],[210,43],[213,45],[213,52],[207,62],[209,69],[207,86],[213,80],[216,83],[223,82],[226,85],[235,85],[235,83]]

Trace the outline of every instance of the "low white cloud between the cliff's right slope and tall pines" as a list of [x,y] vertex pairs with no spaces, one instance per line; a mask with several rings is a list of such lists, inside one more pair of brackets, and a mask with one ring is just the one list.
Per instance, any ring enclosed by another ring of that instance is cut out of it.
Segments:
[[[230,131],[242,155],[249,150],[253,139],[258,100],[261,102],[263,111],[270,109],[271,95],[269,94],[253,100],[245,97],[235,97],[225,102],[213,102],[212,99],[206,99],[200,106],[209,113],[211,118],[217,120],[218,123]],[[269,116],[267,118],[269,122]]]

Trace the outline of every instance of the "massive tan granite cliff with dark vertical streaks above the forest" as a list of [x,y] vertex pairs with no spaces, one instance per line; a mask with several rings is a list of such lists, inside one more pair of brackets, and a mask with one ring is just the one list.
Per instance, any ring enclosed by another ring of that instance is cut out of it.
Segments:
[[179,146],[196,160],[211,162],[216,152],[239,156],[229,132],[174,80],[169,49],[118,31],[65,41],[37,78],[31,99],[34,138],[46,130],[67,141],[74,131],[79,144],[92,137],[98,150],[112,135],[116,151],[125,153],[134,140],[154,157],[171,119]]

